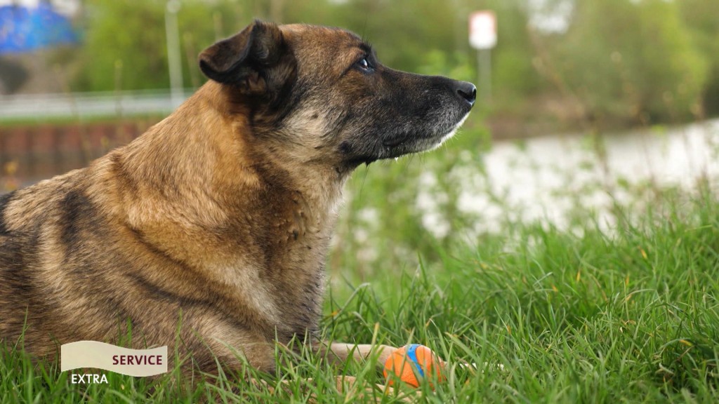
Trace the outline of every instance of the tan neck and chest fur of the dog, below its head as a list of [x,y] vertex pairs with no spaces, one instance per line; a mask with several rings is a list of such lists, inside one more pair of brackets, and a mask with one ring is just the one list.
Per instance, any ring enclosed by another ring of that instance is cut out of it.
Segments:
[[[324,260],[347,175],[255,142],[249,122],[237,120],[247,114],[219,109],[226,105],[222,96],[218,84],[207,83],[122,153],[100,163],[119,178],[111,188],[124,211],[116,217],[173,260],[238,294],[288,283],[286,290],[298,293],[296,302],[287,303],[307,306],[313,312],[308,317],[319,318]],[[238,244],[265,257],[265,265],[238,261]],[[206,261],[209,251],[216,262]],[[267,276],[273,282],[252,283]],[[293,321],[276,318],[292,327]]]

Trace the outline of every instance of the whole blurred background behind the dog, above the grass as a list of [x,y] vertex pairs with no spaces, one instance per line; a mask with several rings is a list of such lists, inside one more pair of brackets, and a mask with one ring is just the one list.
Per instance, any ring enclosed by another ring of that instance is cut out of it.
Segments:
[[719,176],[717,0],[0,0],[0,193],[137,137],[254,18],[350,29],[385,65],[479,87],[446,147],[357,170],[333,270],[413,267],[518,224],[612,231]]

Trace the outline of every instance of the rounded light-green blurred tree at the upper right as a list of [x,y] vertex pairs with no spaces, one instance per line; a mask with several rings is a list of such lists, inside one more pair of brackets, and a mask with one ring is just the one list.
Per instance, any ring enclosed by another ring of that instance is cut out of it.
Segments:
[[706,60],[674,1],[577,0],[567,32],[541,41],[593,119],[685,119],[705,84]]

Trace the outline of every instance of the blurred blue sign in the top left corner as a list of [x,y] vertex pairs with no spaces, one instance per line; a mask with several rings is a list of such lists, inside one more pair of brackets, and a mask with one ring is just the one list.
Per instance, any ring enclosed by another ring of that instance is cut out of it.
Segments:
[[31,52],[53,45],[80,42],[70,20],[52,6],[0,6],[0,54]]

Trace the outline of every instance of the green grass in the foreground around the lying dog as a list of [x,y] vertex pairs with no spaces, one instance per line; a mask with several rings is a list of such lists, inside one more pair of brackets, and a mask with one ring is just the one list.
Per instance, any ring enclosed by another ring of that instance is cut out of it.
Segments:
[[[517,226],[475,247],[438,247],[439,258],[418,267],[376,268],[371,283],[335,275],[324,331],[343,341],[430,346],[449,362],[449,380],[435,392],[423,387],[418,402],[716,402],[719,203],[706,190],[692,198],[669,193],[621,223],[613,236],[592,224],[581,236]],[[321,403],[362,402],[336,392],[334,377],[382,383],[373,365],[333,369],[302,352],[277,375],[244,369],[195,389],[170,375],[152,382],[109,372],[108,385],[72,385],[55,364],[6,352],[0,398],[290,403],[315,394]],[[285,389],[270,394],[247,376]],[[365,402],[398,401],[375,394]]]

